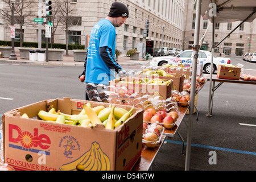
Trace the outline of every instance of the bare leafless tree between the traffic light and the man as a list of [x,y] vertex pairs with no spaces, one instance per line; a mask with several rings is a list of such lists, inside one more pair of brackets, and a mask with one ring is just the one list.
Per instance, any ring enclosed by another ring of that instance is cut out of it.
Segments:
[[73,16],[74,13],[77,15],[77,9],[75,5],[71,5],[71,0],[56,0],[56,8],[59,10],[59,20],[65,28],[65,42],[66,42],[66,55],[68,55],[68,30],[69,27],[76,25],[77,20],[76,16]]

